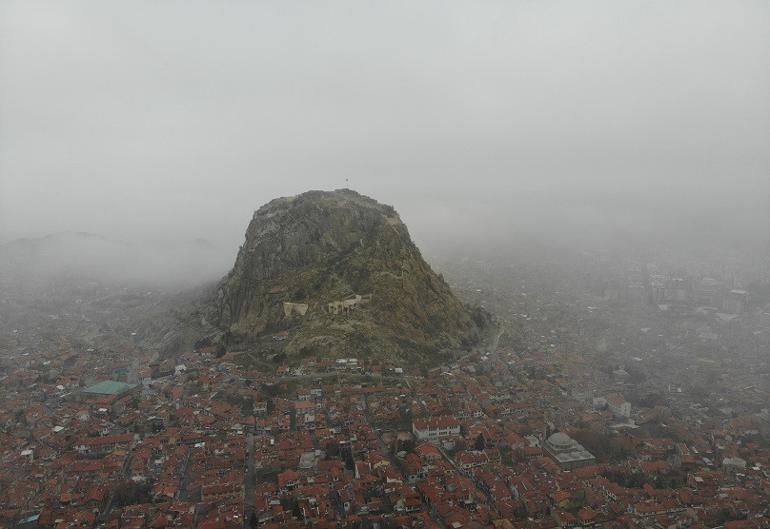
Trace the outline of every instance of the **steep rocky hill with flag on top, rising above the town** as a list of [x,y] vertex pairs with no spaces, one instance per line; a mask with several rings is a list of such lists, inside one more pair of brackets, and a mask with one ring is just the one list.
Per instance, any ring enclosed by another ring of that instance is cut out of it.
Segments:
[[280,342],[287,356],[430,362],[489,325],[431,270],[391,206],[350,190],[262,206],[214,305],[229,344]]

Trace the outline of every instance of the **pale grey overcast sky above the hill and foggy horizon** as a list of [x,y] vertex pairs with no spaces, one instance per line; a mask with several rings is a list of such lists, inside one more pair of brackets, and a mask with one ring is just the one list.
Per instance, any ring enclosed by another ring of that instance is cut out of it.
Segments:
[[428,244],[766,234],[770,2],[0,1],[0,241],[346,186]]

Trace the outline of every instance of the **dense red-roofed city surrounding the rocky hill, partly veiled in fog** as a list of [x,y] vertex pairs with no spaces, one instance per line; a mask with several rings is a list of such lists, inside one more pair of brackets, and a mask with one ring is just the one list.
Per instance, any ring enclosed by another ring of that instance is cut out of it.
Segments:
[[770,310],[592,266],[449,267],[501,332],[431,369],[158,358],[88,299],[3,329],[0,526],[766,527]]

